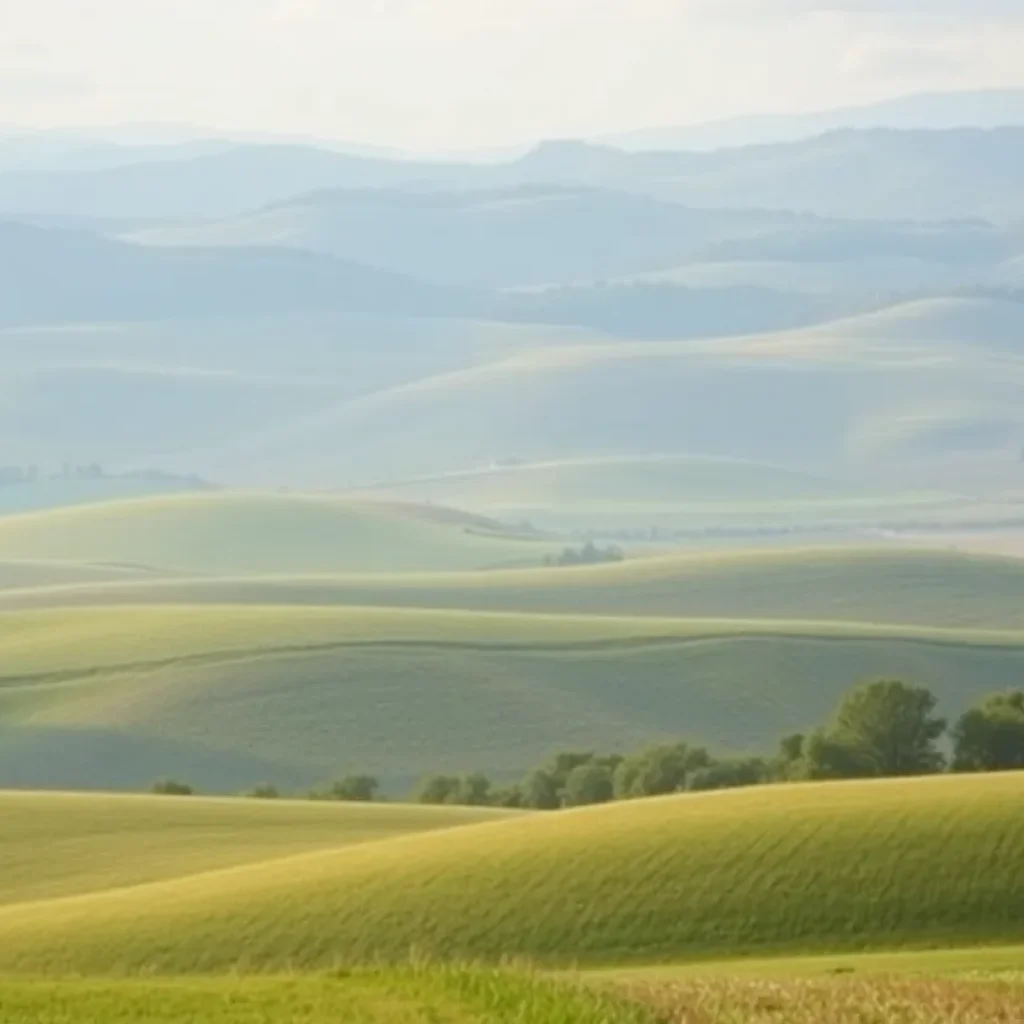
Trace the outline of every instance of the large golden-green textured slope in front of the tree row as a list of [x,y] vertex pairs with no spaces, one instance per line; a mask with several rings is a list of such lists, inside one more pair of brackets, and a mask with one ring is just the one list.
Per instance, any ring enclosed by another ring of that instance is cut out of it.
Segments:
[[788,785],[399,838],[0,910],[4,971],[610,963],[996,943],[1024,776]]

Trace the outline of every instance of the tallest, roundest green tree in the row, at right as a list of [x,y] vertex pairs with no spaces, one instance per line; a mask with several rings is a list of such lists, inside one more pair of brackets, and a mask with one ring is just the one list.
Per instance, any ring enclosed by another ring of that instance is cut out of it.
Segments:
[[944,759],[935,743],[946,721],[933,715],[937,702],[930,690],[897,679],[862,683],[844,697],[831,726],[810,737],[809,774],[828,778],[939,771]]

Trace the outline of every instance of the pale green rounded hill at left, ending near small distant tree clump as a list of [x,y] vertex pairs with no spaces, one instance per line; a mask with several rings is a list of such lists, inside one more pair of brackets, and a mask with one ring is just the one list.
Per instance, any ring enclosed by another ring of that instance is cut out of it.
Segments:
[[216,572],[480,568],[543,559],[445,509],[301,495],[204,493],[0,519],[0,558]]

